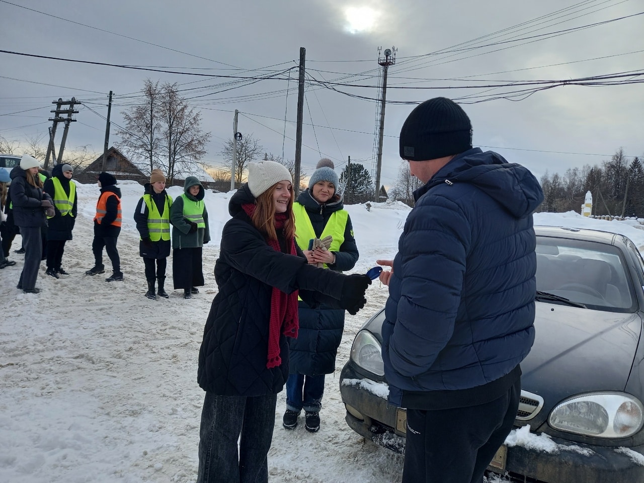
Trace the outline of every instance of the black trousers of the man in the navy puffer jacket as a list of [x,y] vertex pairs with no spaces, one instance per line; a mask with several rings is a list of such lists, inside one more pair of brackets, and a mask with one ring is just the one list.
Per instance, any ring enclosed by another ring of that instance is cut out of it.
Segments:
[[490,403],[447,410],[407,410],[402,483],[482,483],[512,430],[520,379]]

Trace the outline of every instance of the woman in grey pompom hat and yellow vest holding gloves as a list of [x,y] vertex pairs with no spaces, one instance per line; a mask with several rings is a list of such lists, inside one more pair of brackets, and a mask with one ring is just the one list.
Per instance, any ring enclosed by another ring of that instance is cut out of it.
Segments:
[[[308,263],[343,271],[351,270],[358,259],[354,232],[342,197],[337,194],[337,175],[333,162],[322,159],[308,182],[308,189],[293,204],[297,241]],[[328,250],[309,249],[312,238],[332,236]],[[306,413],[305,428],[319,430],[325,374],[336,370],[337,347],[345,327],[345,311],[328,305],[311,308],[298,303],[299,334],[289,339],[290,375],[286,383],[286,412],[282,424],[287,429],[298,425],[301,410]]]

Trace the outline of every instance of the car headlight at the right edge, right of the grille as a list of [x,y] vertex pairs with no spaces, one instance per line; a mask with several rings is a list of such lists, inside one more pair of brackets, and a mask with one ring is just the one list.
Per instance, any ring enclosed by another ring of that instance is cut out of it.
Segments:
[[644,422],[644,406],[623,392],[577,395],[558,404],[548,417],[556,430],[597,438],[627,438]]

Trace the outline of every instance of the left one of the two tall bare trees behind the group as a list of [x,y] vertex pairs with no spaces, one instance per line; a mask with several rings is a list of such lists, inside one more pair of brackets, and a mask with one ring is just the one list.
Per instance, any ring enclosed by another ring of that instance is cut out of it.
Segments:
[[121,138],[120,144],[127,147],[131,155],[146,162],[149,171],[152,171],[158,164],[158,137],[162,131],[159,120],[159,111],[162,108],[159,81],[152,82],[146,79],[141,93],[144,97],[142,104],[121,112],[125,129],[119,129],[117,136]]

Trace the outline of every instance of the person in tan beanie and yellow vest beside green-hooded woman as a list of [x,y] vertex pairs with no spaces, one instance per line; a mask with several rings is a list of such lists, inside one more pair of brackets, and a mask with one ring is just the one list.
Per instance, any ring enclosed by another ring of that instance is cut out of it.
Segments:
[[170,208],[172,198],[166,191],[166,176],[160,169],[153,169],[150,182],[144,187],[144,195],[138,200],[134,221],[141,241],[138,253],[146,266],[146,297],[156,300],[155,280],[158,295],[168,298],[165,289],[167,257],[170,254]]

